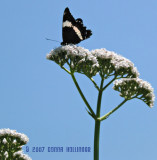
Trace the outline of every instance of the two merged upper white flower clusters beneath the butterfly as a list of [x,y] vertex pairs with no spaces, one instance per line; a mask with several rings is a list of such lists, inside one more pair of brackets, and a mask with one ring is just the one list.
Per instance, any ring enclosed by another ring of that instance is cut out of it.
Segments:
[[136,78],[139,76],[134,64],[128,59],[106,49],[89,51],[76,45],[65,45],[52,50],[47,59],[55,61],[60,66],[67,63],[75,72],[89,77],[100,73],[104,77],[111,75]]

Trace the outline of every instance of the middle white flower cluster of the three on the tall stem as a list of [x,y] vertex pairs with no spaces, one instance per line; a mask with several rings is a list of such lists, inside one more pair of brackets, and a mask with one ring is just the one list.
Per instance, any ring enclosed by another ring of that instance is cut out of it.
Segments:
[[99,63],[99,73],[105,78],[115,75],[116,77],[136,78],[139,76],[134,64],[114,52],[106,49],[96,49],[91,53],[97,58]]

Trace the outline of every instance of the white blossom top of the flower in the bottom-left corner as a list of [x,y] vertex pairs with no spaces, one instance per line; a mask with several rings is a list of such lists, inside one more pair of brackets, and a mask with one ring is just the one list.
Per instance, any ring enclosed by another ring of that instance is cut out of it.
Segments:
[[29,138],[25,134],[18,133],[18,132],[16,132],[16,130],[11,130],[9,128],[8,129],[0,129],[0,139],[2,139],[3,144],[7,143],[6,137],[11,138],[13,140],[13,143],[16,143],[16,141],[18,139],[23,144],[26,144],[29,141]]

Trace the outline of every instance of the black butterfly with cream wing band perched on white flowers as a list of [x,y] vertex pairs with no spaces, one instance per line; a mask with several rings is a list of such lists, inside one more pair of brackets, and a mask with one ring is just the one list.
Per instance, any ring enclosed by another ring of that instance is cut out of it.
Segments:
[[86,30],[83,26],[81,18],[74,19],[71,15],[69,8],[65,8],[63,15],[62,37],[63,42],[61,45],[77,44],[92,35],[91,30]]

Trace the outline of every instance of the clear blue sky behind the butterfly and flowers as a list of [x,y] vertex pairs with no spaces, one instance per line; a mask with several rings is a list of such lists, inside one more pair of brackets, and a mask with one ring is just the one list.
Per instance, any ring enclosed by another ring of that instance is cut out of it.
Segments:
[[[90,146],[94,121],[86,113],[72,79],[46,54],[62,41],[62,16],[69,7],[93,31],[79,46],[106,48],[130,59],[140,78],[157,88],[156,0],[0,1],[0,128],[25,133],[28,146]],[[77,79],[95,110],[97,91]],[[156,92],[155,92],[156,93]],[[112,86],[102,113],[122,101]],[[156,160],[157,107],[126,103],[101,124],[100,160]],[[25,149],[25,147],[24,147]],[[33,160],[91,160],[93,153],[28,153]]]

